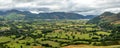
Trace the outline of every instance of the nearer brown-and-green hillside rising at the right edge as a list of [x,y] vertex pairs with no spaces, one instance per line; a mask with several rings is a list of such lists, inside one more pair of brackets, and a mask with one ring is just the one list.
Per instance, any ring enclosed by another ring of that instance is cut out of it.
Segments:
[[91,19],[88,23],[100,24],[100,23],[120,24],[120,13],[104,12],[103,14]]

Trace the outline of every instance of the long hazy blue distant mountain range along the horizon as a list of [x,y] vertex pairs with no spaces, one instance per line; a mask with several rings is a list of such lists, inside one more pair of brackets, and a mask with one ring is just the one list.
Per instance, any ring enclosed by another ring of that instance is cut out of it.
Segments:
[[51,12],[34,14],[29,11],[19,10],[0,11],[0,16],[6,16],[9,19],[17,17],[21,18],[21,16],[24,17],[24,19],[92,19],[95,17],[95,15],[84,16],[81,14],[69,12]]

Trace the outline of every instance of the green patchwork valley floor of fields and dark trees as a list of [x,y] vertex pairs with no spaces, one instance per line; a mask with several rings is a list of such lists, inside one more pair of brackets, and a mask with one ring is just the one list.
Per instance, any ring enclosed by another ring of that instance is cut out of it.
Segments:
[[[111,30],[88,20],[0,21],[0,48],[114,48],[120,41]],[[116,37],[115,39],[111,37]],[[82,44],[82,45],[79,45]],[[114,45],[114,46],[109,46]]]

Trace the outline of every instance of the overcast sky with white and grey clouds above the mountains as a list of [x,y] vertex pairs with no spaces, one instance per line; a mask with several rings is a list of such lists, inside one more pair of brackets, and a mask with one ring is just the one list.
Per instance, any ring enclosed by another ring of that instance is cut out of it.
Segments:
[[120,0],[0,0],[0,10],[10,9],[98,15],[105,11],[120,12]]

